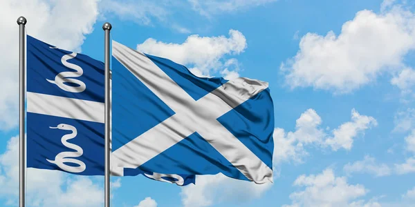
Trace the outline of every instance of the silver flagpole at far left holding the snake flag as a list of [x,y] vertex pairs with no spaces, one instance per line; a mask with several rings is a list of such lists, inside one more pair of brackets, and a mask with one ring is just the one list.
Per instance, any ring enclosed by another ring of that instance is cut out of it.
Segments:
[[24,140],[24,95],[25,95],[25,34],[26,18],[19,17],[19,206],[24,207],[25,200],[25,169],[26,169],[26,143]]

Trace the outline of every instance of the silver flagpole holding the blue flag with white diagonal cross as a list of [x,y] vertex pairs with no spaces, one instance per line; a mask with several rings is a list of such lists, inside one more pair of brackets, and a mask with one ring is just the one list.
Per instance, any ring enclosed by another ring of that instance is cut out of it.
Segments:
[[110,148],[109,148],[109,31],[111,23],[104,23],[102,29],[105,32],[105,207],[109,207],[109,177],[110,177]]

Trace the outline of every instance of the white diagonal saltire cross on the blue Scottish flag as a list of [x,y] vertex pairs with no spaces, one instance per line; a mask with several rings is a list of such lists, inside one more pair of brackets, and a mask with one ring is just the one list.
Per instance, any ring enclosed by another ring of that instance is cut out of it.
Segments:
[[116,41],[112,46],[113,57],[175,112],[172,117],[112,152],[111,170],[114,175],[123,175],[123,168],[137,168],[145,164],[198,132],[251,181],[258,184],[272,181],[273,170],[217,121],[226,112],[266,89],[268,83],[240,78],[228,81],[195,101],[141,52]]

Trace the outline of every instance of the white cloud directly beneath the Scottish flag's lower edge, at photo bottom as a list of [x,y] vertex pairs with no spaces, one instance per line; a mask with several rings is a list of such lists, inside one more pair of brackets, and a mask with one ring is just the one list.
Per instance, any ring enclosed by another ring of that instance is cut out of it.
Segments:
[[272,183],[255,184],[225,177],[225,175],[202,175],[196,177],[196,185],[181,190],[183,206],[212,206],[221,202],[244,203],[257,199],[273,186]]

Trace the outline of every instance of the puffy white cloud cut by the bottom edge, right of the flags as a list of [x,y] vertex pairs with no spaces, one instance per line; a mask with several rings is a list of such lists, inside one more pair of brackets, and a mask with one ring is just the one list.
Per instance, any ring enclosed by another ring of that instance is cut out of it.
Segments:
[[300,175],[293,185],[304,189],[291,193],[290,206],[356,206],[353,200],[368,192],[360,184],[348,184],[346,177],[335,177],[330,168],[318,175]]

